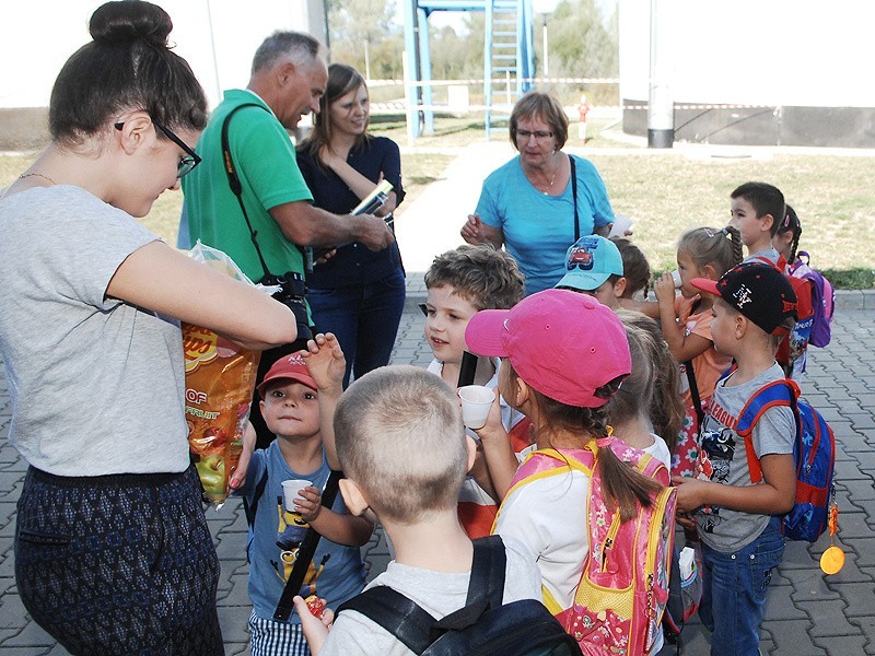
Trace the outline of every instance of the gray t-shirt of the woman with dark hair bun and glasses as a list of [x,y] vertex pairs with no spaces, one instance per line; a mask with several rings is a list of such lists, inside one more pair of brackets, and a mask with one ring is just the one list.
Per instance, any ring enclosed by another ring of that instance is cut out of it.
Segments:
[[69,185],[3,198],[0,226],[10,442],[58,476],[185,470],[179,324],[105,296],[121,262],[159,237]]

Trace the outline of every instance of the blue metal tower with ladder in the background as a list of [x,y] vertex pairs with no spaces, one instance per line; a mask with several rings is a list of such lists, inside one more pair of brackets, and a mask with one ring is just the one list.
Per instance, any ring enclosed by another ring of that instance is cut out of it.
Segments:
[[[405,0],[407,126],[411,138],[434,131],[429,15],[435,11],[486,12],[483,105],[489,139],[493,110],[510,114],[516,98],[532,87],[535,75],[532,0]],[[424,108],[415,109],[420,105]]]

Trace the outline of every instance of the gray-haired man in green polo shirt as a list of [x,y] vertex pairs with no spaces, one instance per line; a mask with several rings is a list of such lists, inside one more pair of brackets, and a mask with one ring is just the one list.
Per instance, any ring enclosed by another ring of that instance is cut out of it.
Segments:
[[[319,42],[296,32],[269,36],[253,58],[247,87],[226,91],[203,130],[196,149],[203,163],[183,178],[191,243],[200,239],[223,250],[254,281],[267,272],[303,279],[304,246],[360,242],[380,250],[394,241],[378,216],[331,214],[311,204],[313,196],[287,129],[295,128],[303,115],[319,110],[327,80]],[[232,112],[228,147],[252,232],[224,167],[222,127]],[[304,345],[295,342],[265,352],[258,380],[281,355]],[[250,420],[258,446],[266,446],[273,436],[261,420],[257,398]]]

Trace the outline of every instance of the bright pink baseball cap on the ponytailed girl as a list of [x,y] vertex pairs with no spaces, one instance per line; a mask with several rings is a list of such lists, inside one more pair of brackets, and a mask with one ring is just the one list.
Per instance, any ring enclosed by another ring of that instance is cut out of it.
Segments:
[[567,406],[598,408],[595,390],[632,371],[620,319],[586,294],[545,290],[512,309],[483,309],[465,330],[478,355],[509,358],[520,377]]

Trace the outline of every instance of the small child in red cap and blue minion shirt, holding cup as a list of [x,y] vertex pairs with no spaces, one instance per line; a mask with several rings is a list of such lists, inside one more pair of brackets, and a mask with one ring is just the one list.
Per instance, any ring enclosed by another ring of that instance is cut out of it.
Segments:
[[[341,376],[342,370],[338,368]],[[359,547],[368,542],[374,527],[364,517],[349,515],[340,495],[332,508],[322,506],[319,491],[330,468],[319,423],[319,390],[304,359],[300,354],[280,358],[257,389],[265,423],[277,440],[253,454],[246,480],[235,491],[255,515],[247,549],[252,652],[308,655],[298,613],[287,622],[273,619],[307,527],[325,539],[319,540],[300,595],[317,595],[331,608],[362,591],[364,565]],[[293,491],[291,507],[282,487],[290,480],[312,483]]]

